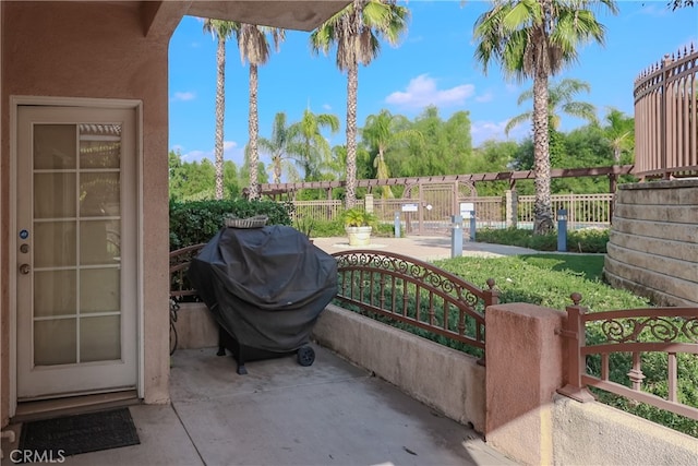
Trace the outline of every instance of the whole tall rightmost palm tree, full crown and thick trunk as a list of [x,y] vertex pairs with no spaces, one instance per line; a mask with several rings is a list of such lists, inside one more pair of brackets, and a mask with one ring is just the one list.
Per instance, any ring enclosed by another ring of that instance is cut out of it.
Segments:
[[592,40],[603,44],[605,27],[591,11],[600,5],[617,13],[613,0],[494,0],[492,10],[478,17],[474,25],[474,56],[485,74],[489,64],[496,61],[506,77],[533,79],[535,234],[554,228],[547,80],[577,60],[580,45]]

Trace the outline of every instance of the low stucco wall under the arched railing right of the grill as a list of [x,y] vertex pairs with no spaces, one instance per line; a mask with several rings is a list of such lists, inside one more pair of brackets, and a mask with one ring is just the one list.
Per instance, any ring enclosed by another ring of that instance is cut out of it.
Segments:
[[317,343],[462,425],[485,428],[485,368],[465,353],[329,304]]

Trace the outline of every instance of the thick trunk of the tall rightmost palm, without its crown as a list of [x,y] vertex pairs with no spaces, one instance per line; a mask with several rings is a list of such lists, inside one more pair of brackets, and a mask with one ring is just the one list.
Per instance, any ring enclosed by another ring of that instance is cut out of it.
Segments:
[[533,234],[544,235],[554,229],[550,194],[550,141],[547,132],[547,73],[537,70],[533,76],[533,171],[535,201]]

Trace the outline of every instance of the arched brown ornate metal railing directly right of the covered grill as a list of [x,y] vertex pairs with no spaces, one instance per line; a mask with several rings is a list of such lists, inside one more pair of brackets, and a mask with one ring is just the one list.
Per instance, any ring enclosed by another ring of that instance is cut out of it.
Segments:
[[401,254],[372,250],[333,254],[339,273],[337,300],[378,320],[400,322],[484,349],[484,309],[498,302],[489,289]]

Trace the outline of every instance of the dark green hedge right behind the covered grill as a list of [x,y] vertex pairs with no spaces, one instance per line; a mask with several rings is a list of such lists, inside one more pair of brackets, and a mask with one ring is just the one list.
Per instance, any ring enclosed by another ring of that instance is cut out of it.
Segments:
[[274,201],[193,201],[170,203],[170,251],[208,242],[229,214],[238,218],[269,217],[267,225],[291,226],[293,205]]

